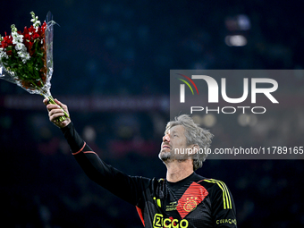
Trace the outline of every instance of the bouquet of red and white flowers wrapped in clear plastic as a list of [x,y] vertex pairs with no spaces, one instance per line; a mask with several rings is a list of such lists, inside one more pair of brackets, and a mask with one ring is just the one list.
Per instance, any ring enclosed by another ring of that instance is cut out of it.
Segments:
[[[0,36],[0,79],[13,82],[30,94],[42,95],[56,105],[50,92],[55,21],[49,12],[41,25],[35,13],[30,14],[33,22],[30,28],[25,27],[21,32],[12,25],[11,35],[5,32],[4,38]],[[59,117],[59,121],[64,119]]]

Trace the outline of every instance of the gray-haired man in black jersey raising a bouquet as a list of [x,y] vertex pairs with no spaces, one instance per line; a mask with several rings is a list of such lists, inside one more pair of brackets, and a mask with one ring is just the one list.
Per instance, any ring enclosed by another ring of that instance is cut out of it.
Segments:
[[[72,155],[91,180],[137,208],[145,227],[236,227],[235,206],[224,182],[195,173],[202,166],[213,135],[181,115],[168,122],[159,158],[167,168],[166,179],[129,176],[106,165],[74,129],[67,106],[47,105],[49,120],[63,131]],[[63,109],[62,109],[62,108]]]

